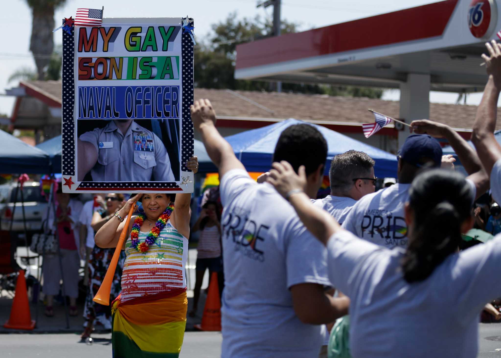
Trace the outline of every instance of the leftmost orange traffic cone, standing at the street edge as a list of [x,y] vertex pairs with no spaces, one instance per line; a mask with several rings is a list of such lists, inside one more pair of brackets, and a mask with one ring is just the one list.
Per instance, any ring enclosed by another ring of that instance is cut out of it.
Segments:
[[31,319],[30,304],[28,303],[28,292],[26,291],[25,272],[19,270],[18,281],[16,283],[16,295],[12,302],[11,317],[4,324],[5,328],[33,329],[35,321]]

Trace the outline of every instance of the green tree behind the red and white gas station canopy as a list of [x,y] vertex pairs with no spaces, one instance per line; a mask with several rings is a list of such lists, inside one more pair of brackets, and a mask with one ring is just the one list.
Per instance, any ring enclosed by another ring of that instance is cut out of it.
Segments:
[[[282,21],[281,33],[295,33],[299,24]],[[238,19],[236,13],[212,25],[210,39],[198,42],[194,49],[194,82],[200,88],[229,88],[241,90],[270,90],[264,81],[236,80],[236,45],[272,36],[273,24],[260,16]],[[355,97],[381,98],[382,89],[350,86],[329,86],[301,83],[282,83],[284,92],[320,93]]]

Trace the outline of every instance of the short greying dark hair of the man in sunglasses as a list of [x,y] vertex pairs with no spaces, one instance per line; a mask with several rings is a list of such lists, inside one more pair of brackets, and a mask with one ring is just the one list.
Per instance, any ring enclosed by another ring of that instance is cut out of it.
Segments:
[[331,189],[345,192],[353,185],[354,178],[367,177],[374,167],[374,160],[364,152],[349,150],[338,154],[331,161],[329,180]]

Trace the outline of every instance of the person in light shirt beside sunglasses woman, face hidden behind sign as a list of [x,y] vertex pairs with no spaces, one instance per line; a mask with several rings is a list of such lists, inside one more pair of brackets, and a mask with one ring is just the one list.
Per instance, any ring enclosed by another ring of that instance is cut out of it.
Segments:
[[94,230],[91,227],[92,216],[95,211],[103,210],[105,207],[104,199],[101,194],[94,194],[94,199],[87,201],[82,207],[80,213],[80,257],[85,262],[84,266],[84,286],[89,282],[89,258],[94,248]]

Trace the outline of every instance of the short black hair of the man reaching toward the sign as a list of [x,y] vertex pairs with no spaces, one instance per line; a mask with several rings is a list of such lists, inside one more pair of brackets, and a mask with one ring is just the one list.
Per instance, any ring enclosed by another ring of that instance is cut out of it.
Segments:
[[307,124],[288,127],[279,137],[273,161],[289,162],[297,173],[304,165],[306,175],[316,171],[327,159],[327,142],[322,133]]

